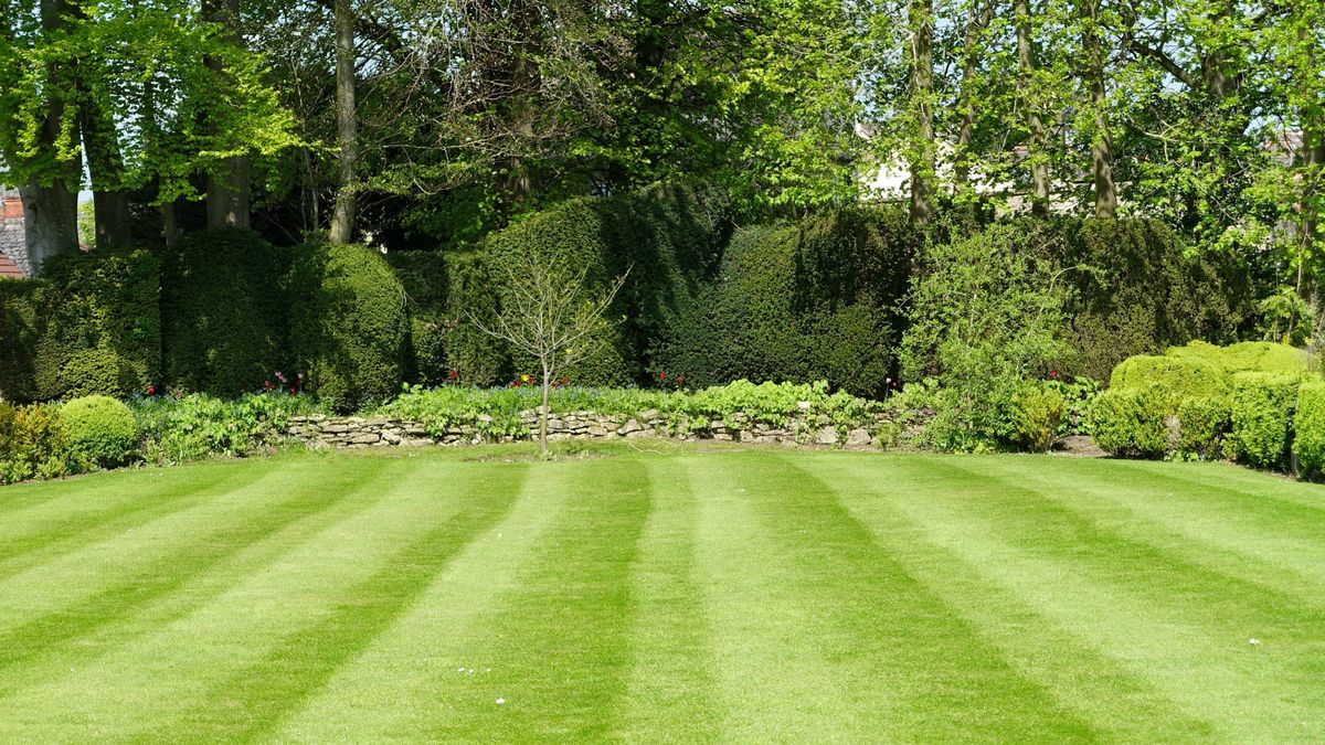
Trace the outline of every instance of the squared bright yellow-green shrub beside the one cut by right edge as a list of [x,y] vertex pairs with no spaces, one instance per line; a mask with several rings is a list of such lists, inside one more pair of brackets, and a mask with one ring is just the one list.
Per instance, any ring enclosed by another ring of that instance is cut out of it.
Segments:
[[1298,376],[1281,372],[1234,375],[1234,456],[1255,468],[1283,468],[1292,431]]

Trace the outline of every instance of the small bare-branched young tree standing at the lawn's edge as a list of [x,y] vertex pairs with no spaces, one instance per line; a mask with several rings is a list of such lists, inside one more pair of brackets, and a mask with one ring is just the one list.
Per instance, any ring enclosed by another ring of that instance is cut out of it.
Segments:
[[629,274],[627,269],[603,292],[594,292],[587,281],[588,268],[575,270],[564,258],[541,248],[538,241],[518,241],[493,261],[497,284],[504,290],[496,323],[469,318],[484,333],[538,361],[543,383],[538,451],[543,457],[553,382],[563,370],[598,351],[613,325],[607,309]]

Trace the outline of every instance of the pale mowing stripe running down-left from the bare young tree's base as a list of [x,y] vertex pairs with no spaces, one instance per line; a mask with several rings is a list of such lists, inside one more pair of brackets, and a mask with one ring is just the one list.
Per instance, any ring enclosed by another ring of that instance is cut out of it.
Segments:
[[[481,467],[439,461],[435,473],[465,479],[474,468]],[[567,467],[538,468],[535,477],[525,480],[506,520],[465,546],[409,612],[343,664],[273,738],[435,738],[452,701],[474,696],[482,685],[492,664],[476,663],[476,655],[494,634],[490,619],[498,603],[522,587],[521,575],[531,571],[537,547],[558,540],[553,524],[571,492],[572,473]],[[486,693],[477,696],[480,704],[494,705]]]

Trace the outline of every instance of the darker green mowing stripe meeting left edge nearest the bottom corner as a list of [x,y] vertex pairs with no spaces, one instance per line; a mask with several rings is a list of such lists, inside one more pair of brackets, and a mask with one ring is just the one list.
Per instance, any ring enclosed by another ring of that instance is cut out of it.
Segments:
[[[356,469],[329,469],[317,483],[302,484],[295,501],[278,505],[273,517],[284,514],[285,520],[250,524],[249,534],[232,533],[220,549],[212,544],[191,545],[183,555],[164,559],[155,571],[148,570],[127,587],[111,587],[91,598],[77,612],[44,616],[0,631],[0,671],[5,672],[0,695],[23,680],[49,675],[52,665],[68,669],[70,664],[95,664],[99,654],[151,634],[224,593],[290,545],[367,509],[379,492],[366,488],[363,479],[380,487],[383,479],[391,477],[383,473],[388,465],[390,461],[379,460],[363,461]],[[24,664],[21,675],[15,669],[17,663]]]

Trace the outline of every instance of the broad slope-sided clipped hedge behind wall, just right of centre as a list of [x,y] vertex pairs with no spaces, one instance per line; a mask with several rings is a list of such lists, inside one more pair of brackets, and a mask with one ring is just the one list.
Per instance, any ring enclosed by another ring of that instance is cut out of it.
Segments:
[[697,384],[825,379],[881,398],[896,378],[913,235],[894,208],[738,231],[716,282],[664,329],[657,369]]

